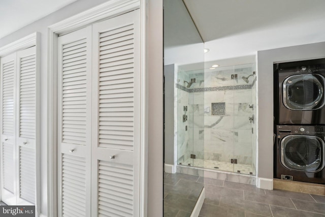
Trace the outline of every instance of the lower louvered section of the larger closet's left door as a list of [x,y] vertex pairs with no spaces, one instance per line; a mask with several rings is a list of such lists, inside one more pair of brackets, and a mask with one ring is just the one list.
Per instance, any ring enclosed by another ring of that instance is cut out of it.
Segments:
[[86,162],[62,154],[62,216],[86,216]]

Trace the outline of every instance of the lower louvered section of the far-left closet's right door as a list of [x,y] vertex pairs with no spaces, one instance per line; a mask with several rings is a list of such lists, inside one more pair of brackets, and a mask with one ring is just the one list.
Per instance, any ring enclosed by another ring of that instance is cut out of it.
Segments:
[[20,146],[19,150],[19,183],[20,197],[35,204],[36,165],[35,149]]

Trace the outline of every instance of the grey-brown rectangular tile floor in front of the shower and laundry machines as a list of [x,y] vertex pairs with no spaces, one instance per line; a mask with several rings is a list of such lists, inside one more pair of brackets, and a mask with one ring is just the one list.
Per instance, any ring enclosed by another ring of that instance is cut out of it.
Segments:
[[325,217],[325,196],[269,191],[249,184],[180,173],[165,174],[164,217],[190,216],[203,182],[206,198],[200,217]]

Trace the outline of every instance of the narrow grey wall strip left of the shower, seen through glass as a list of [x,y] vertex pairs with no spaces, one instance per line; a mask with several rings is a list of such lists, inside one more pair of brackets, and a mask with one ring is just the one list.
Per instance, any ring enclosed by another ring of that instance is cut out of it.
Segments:
[[174,69],[175,65],[164,67],[165,74],[165,164],[174,165]]

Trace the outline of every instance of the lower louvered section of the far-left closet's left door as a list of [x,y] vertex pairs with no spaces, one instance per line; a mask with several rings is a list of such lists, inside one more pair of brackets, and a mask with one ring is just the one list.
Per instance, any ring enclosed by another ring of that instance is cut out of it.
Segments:
[[4,183],[4,188],[12,193],[14,193],[13,154],[14,154],[13,145],[4,142],[3,156],[2,156],[3,174],[4,174],[3,183]]

